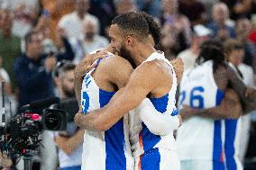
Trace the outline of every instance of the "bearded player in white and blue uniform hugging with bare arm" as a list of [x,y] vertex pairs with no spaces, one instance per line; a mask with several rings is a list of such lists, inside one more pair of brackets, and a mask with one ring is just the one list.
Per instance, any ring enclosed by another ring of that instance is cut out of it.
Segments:
[[[108,130],[125,113],[139,105],[147,95],[151,97],[151,103],[157,111],[163,114],[177,113],[175,72],[164,55],[151,46],[147,38],[147,27],[145,20],[137,13],[125,13],[114,19],[110,28],[112,46],[137,68],[127,85],[114,94],[105,107],[88,114],[78,113],[75,118],[78,126],[88,130]],[[178,157],[172,150],[173,134],[160,137],[152,134],[143,123],[141,128],[138,139],[142,144],[140,156],[143,155],[138,168],[179,169]]]

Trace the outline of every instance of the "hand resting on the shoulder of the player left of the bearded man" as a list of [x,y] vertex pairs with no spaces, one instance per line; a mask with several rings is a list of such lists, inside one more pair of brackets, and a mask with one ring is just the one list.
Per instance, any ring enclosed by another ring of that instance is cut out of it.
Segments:
[[107,55],[105,51],[99,51],[96,54],[89,54],[78,64],[75,69],[75,76],[85,76],[89,70],[96,67],[96,60],[98,58],[104,58]]

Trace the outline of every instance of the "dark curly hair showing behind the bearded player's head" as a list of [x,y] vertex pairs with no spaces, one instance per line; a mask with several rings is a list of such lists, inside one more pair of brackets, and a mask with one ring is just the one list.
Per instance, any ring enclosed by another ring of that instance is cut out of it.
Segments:
[[160,49],[160,39],[161,39],[161,31],[160,31],[160,24],[154,20],[154,17],[149,13],[139,12],[142,14],[146,22],[149,26],[149,33],[151,34],[154,42],[155,42],[155,49]]

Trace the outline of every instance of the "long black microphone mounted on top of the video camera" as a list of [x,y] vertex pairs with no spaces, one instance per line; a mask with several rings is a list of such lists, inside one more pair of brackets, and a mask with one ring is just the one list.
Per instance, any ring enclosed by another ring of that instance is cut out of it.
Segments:
[[48,99],[43,99],[40,101],[34,101],[32,103],[24,105],[21,110],[27,110],[27,109],[42,109],[45,107],[49,107],[53,103],[59,103],[58,97],[51,97]]

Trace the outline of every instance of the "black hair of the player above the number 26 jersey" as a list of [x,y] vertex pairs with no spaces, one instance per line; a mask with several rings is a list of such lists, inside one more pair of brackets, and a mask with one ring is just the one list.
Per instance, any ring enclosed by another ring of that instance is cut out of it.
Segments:
[[214,61],[214,73],[220,65],[226,67],[224,45],[219,40],[206,40],[201,45],[201,52],[197,58],[197,64],[202,64],[208,60]]

